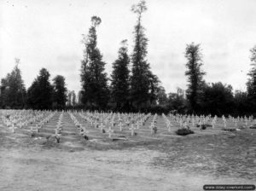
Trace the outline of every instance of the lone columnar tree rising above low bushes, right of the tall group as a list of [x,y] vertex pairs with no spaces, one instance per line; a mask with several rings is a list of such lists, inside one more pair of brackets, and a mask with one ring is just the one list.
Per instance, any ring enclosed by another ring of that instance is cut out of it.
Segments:
[[206,72],[201,70],[202,55],[200,44],[187,44],[185,57],[188,59],[185,75],[188,76],[189,83],[186,93],[190,110],[194,113],[200,108],[202,90],[205,85],[203,76],[206,74]]

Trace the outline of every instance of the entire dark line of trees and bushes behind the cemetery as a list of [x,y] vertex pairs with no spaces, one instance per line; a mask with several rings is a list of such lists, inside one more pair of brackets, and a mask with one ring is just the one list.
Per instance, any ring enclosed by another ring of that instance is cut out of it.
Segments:
[[15,59],[15,68],[1,79],[0,108],[256,116],[256,45],[250,49],[252,68],[247,73],[246,91],[236,90],[234,93],[230,84],[207,83],[204,79],[207,73],[201,69],[201,44],[189,43],[184,54],[187,59],[187,63],[184,63],[187,90],[177,89],[177,92],[166,93],[160,78],[151,71],[146,59],[148,38],[142,24],[146,10],[145,1],[132,5],[131,12],[137,14],[132,54],[128,55],[127,40],[121,40],[110,78],[105,72],[106,63],[102,61],[102,53],[97,48],[96,30],[102,20],[92,16],[89,32],[83,36],[82,88],[79,94],[67,90],[65,77],[61,75],[50,81],[46,68],[39,71],[26,89],[19,68],[20,60]]

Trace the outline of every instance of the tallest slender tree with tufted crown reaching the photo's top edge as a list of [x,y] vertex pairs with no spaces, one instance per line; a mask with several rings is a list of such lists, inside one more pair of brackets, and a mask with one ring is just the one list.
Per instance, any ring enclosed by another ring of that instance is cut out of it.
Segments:
[[133,5],[131,11],[137,14],[137,25],[135,26],[135,45],[131,55],[131,101],[133,106],[140,110],[147,107],[150,101],[150,67],[146,60],[148,38],[145,37],[142,26],[142,14],[147,10],[145,1]]

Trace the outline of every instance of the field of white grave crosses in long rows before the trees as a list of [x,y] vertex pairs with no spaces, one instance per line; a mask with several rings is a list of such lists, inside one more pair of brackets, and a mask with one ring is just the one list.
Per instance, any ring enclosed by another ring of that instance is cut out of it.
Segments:
[[[103,142],[159,141],[178,137],[177,130],[191,136],[229,134],[250,129],[253,117],[217,118],[181,114],[50,112],[1,110],[1,131],[15,137],[45,137],[57,143],[98,140]],[[253,128],[251,128],[253,129]]]

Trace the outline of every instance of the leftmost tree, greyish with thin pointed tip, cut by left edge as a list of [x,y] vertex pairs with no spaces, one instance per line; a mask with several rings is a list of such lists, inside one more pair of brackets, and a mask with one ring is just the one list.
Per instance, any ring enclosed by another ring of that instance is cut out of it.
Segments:
[[0,103],[4,108],[23,108],[26,102],[26,88],[21,78],[20,60],[15,59],[16,65],[6,78],[1,80]]

